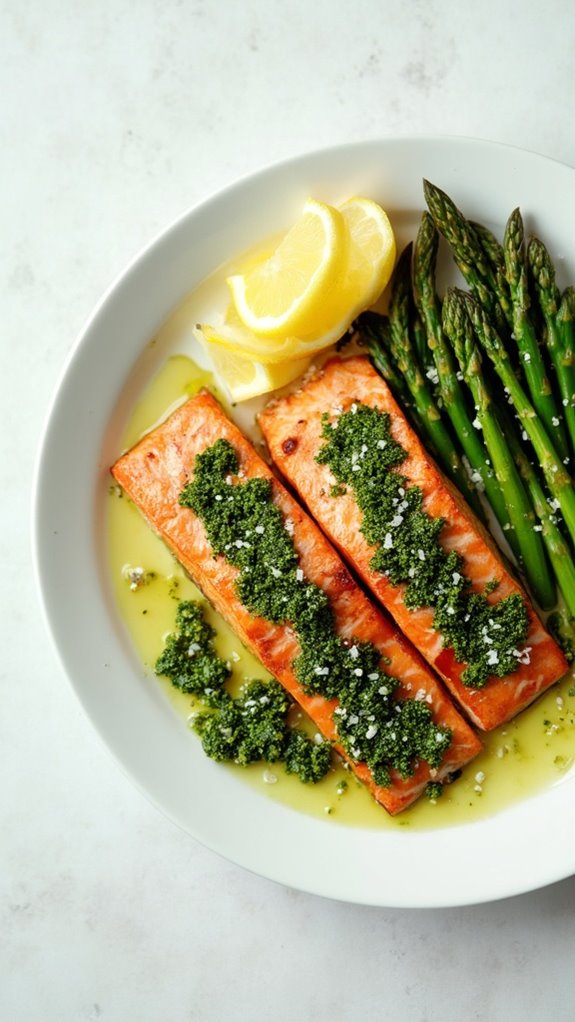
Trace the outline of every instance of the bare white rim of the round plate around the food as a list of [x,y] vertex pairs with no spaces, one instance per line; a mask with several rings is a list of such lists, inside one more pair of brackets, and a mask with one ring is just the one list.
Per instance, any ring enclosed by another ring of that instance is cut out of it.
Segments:
[[[256,174],[171,227],[104,297],[67,362],[36,492],[36,558],[49,625],[87,713],[153,802],[209,848],[301,890],[374,905],[490,900],[575,872],[575,779],[491,819],[445,830],[334,826],[262,798],[207,760],[159,687],[146,685],[111,596],[108,466],[162,353],[147,342],[174,307],[236,253],[285,228],[308,195],[379,199],[413,237],[422,177],[500,230],[520,204],[575,280],[575,172],[466,139],[388,140],[312,153]],[[142,359],[142,353],[145,356]],[[383,810],[382,810],[383,811]]]

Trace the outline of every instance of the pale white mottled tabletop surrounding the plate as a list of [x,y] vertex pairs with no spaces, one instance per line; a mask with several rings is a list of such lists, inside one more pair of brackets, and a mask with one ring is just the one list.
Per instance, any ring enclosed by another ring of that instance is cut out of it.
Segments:
[[323,144],[463,134],[575,165],[574,32],[570,0],[0,4],[7,1022],[573,1018],[575,880],[461,910],[356,908],[246,874],[150,807],[56,662],[29,519],[60,366],[143,243]]

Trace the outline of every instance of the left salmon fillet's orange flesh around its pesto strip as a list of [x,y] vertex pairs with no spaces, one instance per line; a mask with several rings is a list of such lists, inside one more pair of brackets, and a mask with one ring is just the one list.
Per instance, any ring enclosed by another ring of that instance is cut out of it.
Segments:
[[[193,475],[196,456],[221,437],[234,447],[244,478],[262,476],[272,480],[274,503],[284,519],[291,521],[300,567],[309,582],[326,592],[339,636],[373,643],[382,658],[389,661],[385,664],[386,673],[400,681],[397,698],[405,699],[416,694],[418,699],[425,698],[435,723],[451,730],[451,743],[438,769],[432,771],[426,762],[420,761],[412,777],[403,779],[392,771],[391,785],[378,786],[367,764],[348,759],[337,744],[333,719],[337,700],[306,695],[299,685],[292,669],[299,653],[293,630],[287,624],[275,624],[254,616],[239,602],[235,586],[239,569],[224,557],[213,556],[200,518],[179,504],[180,494]],[[373,606],[331,544],[210,393],[202,391],[180,407],[163,424],[123,455],[111,471],[244,645],[302,706],[318,730],[335,743],[339,754],[348,759],[355,775],[388,812],[399,812],[419,797],[429,780],[446,778],[480,751],[478,737],[424,660]]]

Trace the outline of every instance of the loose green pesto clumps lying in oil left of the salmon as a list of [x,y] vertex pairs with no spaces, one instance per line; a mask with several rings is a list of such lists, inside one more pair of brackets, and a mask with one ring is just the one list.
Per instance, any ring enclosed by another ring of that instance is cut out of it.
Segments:
[[273,680],[246,681],[241,694],[233,698],[226,689],[230,665],[213,648],[215,633],[204,619],[201,604],[182,601],[176,625],[155,671],[197,697],[202,708],[194,715],[193,728],[204,752],[211,759],[242,766],[260,759],[282,761],[287,773],[297,774],[300,781],[321,781],[331,765],[331,745],[289,727],[291,700],[282,686]]

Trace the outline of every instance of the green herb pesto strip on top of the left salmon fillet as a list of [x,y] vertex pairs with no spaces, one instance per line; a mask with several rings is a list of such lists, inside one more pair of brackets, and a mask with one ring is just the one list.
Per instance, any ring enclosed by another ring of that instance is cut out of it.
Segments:
[[336,631],[324,591],[298,566],[293,525],[272,499],[269,479],[242,480],[234,448],[225,439],[199,454],[180,503],[201,519],[213,554],[239,568],[238,598],[250,613],[294,630],[300,653],[292,667],[304,691],[337,698],[335,725],[349,757],[365,761],[377,784],[390,784],[418,760],[438,766],[451,741],[429,706],[394,697],[398,682],[381,666],[371,643],[345,642]]

